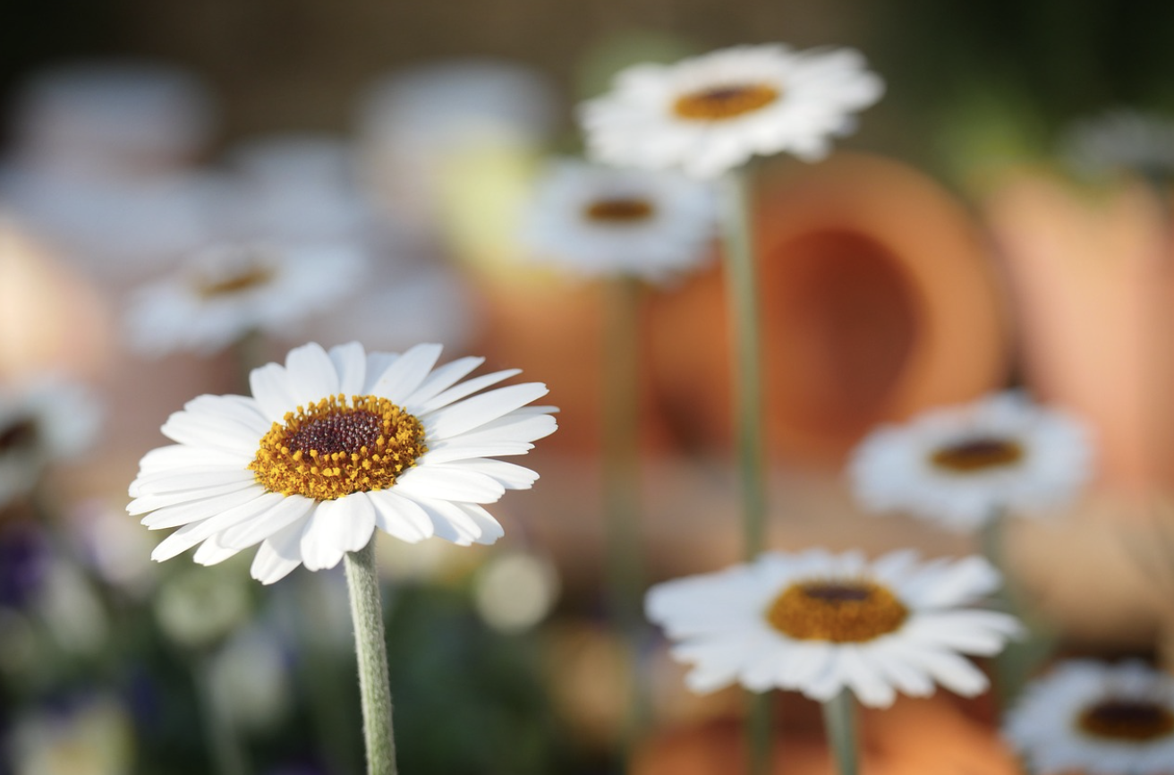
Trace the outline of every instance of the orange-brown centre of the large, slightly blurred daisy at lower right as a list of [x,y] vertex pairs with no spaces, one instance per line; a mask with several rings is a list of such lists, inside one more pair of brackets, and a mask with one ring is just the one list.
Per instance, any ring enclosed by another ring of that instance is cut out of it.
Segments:
[[863,579],[790,585],[767,609],[767,621],[797,640],[870,641],[898,629],[909,609],[889,589]]

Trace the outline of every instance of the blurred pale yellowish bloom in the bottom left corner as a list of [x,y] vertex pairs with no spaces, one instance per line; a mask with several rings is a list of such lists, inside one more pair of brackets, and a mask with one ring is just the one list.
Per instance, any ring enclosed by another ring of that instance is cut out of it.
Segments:
[[19,717],[8,739],[14,775],[129,775],[134,727],[113,696]]

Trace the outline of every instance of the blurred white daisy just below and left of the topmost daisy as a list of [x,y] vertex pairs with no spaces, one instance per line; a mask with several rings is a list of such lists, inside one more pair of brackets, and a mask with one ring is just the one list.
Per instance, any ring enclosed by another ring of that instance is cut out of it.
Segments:
[[578,275],[664,281],[706,258],[716,220],[706,183],[564,159],[539,181],[522,238]]

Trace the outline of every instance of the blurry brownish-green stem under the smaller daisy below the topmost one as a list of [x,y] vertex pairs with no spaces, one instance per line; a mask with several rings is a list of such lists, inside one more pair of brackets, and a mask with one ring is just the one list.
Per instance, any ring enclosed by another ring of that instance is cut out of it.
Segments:
[[603,511],[612,615],[628,646],[625,748],[648,721],[648,693],[639,658],[645,638],[640,535],[640,298],[639,281],[605,288]]

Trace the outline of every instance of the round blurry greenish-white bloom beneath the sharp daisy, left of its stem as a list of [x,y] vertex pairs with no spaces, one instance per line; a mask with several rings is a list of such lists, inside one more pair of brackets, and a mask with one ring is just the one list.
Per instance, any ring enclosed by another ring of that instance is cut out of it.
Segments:
[[211,646],[249,616],[251,602],[243,581],[229,570],[182,572],[168,579],[155,595],[155,620],[181,646]]

